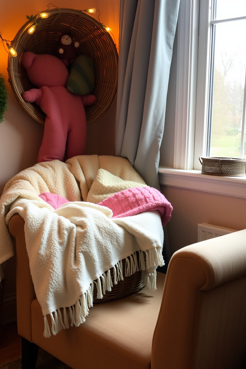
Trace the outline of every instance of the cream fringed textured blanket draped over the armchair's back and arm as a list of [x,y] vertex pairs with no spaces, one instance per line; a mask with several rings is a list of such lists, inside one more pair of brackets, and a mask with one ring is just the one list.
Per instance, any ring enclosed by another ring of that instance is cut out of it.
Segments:
[[[112,211],[96,204],[136,186],[146,184],[126,159],[97,155],[77,156],[66,163],[39,163],[6,184],[0,199],[0,263],[13,255],[6,224],[19,213],[25,220],[27,252],[44,314],[45,337],[50,335],[48,314],[53,334],[68,328],[66,308],[71,324],[83,323],[93,304],[94,285],[98,298],[102,298],[105,290],[122,279],[122,259],[129,257],[127,275],[138,268],[148,269],[146,281],[155,288],[155,268],[164,265],[159,213],[111,219]],[[38,197],[42,192],[60,194],[72,202],[54,210]],[[110,268],[114,268],[113,281]]]

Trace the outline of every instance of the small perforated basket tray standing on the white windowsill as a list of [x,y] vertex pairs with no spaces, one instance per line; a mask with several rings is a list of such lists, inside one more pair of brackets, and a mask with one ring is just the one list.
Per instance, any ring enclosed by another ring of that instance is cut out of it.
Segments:
[[242,177],[246,173],[246,159],[238,158],[199,158],[202,174],[226,177]]

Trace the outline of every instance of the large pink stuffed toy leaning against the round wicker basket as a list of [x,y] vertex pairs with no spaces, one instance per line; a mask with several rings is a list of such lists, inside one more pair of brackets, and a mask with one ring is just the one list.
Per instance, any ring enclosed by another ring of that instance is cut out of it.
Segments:
[[22,63],[38,89],[23,93],[23,99],[35,102],[46,114],[44,137],[38,163],[84,155],[86,149],[86,114],[84,106],[96,101],[93,95],[72,94],[66,89],[68,71],[52,55],[25,52]]

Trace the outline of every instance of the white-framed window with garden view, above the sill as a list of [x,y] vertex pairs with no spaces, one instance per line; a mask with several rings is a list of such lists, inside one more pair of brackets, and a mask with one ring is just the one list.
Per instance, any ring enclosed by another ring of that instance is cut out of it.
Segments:
[[181,0],[174,168],[245,157],[246,1]]

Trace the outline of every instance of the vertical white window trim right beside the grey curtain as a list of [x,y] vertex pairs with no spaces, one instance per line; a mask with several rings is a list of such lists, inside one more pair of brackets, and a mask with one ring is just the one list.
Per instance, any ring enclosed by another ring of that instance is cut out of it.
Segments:
[[199,0],[180,0],[174,135],[176,169],[194,168]]

